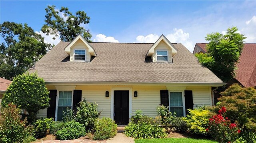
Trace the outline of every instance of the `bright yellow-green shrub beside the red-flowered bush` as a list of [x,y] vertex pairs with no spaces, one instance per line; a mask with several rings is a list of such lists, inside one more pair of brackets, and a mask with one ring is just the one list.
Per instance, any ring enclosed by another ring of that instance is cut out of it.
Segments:
[[188,109],[189,114],[182,118],[186,121],[188,131],[195,134],[206,135],[206,128],[209,123],[209,110],[202,108]]

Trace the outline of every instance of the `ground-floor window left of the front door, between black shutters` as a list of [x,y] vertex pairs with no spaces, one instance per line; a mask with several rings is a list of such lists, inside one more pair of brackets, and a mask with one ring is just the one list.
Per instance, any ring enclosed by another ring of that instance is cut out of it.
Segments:
[[67,108],[72,108],[72,91],[60,91],[58,99],[57,121],[62,119],[63,112],[65,112]]

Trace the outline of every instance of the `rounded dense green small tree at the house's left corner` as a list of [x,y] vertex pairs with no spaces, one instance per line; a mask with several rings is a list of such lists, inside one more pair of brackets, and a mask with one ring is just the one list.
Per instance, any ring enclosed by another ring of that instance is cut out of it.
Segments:
[[38,110],[49,107],[48,94],[43,78],[36,73],[18,75],[4,94],[2,106],[7,107],[13,103],[26,110],[28,116],[34,119]]

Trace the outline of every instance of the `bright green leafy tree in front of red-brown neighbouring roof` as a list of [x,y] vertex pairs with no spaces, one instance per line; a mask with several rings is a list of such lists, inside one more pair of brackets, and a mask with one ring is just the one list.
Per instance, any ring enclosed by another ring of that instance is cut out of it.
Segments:
[[197,54],[199,62],[208,67],[222,81],[234,78],[236,64],[244,47],[244,35],[236,27],[227,29],[226,34],[207,34],[206,54]]

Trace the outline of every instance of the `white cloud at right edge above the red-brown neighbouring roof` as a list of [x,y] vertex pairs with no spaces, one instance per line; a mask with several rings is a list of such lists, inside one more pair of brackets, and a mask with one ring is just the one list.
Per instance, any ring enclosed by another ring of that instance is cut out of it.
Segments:
[[256,16],[245,22],[246,25],[241,30],[247,38],[244,40],[246,43],[256,43]]

